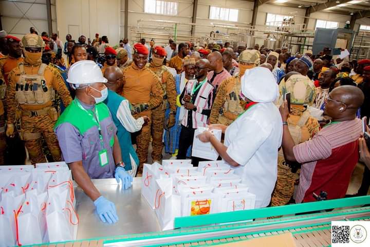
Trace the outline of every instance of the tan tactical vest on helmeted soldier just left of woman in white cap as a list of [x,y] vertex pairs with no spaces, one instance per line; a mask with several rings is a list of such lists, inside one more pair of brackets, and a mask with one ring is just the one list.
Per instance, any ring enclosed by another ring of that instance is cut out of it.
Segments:
[[230,92],[226,95],[226,100],[223,107],[218,115],[218,122],[223,125],[231,125],[231,123],[244,112],[241,100],[239,99],[239,93],[242,90],[242,84],[239,77],[233,77],[234,86],[232,90],[227,90]]

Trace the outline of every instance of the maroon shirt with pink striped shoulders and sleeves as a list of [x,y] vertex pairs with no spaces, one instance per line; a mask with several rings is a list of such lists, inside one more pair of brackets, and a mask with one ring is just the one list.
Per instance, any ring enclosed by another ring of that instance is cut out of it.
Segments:
[[312,193],[328,193],[328,199],[345,196],[352,171],[358,162],[358,138],[361,120],[332,123],[311,140],[293,147],[302,163],[300,184],[295,202],[315,201]]

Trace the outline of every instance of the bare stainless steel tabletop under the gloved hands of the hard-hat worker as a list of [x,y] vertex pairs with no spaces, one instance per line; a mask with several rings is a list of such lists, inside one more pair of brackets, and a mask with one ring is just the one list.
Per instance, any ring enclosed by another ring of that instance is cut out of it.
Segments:
[[107,224],[100,221],[93,201],[75,186],[79,226],[77,239],[160,231],[155,211],[141,197],[141,178],[134,178],[132,187],[121,190],[116,179],[92,180],[101,195],[115,203],[119,221]]

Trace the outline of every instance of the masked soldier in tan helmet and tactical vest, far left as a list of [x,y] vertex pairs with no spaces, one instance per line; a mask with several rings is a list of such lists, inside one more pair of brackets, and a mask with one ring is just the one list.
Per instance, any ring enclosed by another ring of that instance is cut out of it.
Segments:
[[62,77],[56,69],[41,62],[45,44],[40,36],[26,34],[21,42],[25,54],[24,63],[12,70],[8,77],[6,94],[6,135],[14,136],[15,113],[21,110],[21,136],[32,164],[46,162],[41,147],[41,135],[45,138],[54,161],[61,160],[61,151],[53,127],[58,113],[52,107],[55,91],[63,103],[72,99]]

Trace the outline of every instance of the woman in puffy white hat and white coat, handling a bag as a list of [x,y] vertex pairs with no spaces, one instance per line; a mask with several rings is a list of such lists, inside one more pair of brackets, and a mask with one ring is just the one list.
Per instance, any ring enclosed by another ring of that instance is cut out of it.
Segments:
[[278,149],[282,143],[283,124],[273,101],[279,87],[268,68],[246,70],[240,97],[247,102],[245,112],[230,126],[211,125],[225,133],[225,144],[211,132],[197,136],[211,142],[218,154],[235,169],[249,192],[256,195],[255,208],[266,207],[271,200],[277,178]]

